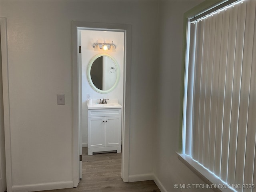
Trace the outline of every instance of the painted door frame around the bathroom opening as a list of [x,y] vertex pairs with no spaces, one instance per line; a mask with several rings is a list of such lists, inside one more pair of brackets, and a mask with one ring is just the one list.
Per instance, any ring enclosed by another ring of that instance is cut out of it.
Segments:
[[126,52],[124,53],[124,104],[122,125],[122,169],[121,177],[128,182],[129,176],[129,146],[130,146],[130,74],[131,74],[131,34],[132,27],[127,24],[107,24],[94,22],[72,21],[72,62],[73,62],[73,186],[79,183],[79,116],[80,116],[80,74],[81,66],[78,62],[78,29],[97,28],[106,30],[124,30],[126,38]]

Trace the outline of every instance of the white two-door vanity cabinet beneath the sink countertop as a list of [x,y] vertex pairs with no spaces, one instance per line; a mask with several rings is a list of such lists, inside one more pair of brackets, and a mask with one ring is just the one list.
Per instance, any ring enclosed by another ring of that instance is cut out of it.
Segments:
[[88,155],[121,152],[121,108],[88,109]]

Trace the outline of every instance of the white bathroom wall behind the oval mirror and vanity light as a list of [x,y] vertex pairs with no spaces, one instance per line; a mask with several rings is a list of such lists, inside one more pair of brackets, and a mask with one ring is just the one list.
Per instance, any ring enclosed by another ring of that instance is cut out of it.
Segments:
[[[116,52],[94,51],[92,44],[98,42],[112,43],[116,45]],[[97,99],[118,99],[118,103],[123,106],[123,88],[124,88],[124,32],[81,30],[82,45],[82,142],[83,147],[88,144],[88,109],[87,94],[90,94],[92,100]],[[120,69],[120,80],[116,88],[107,94],[96,92],[89,84],[87,77],[87,68],[90,60],[97,54],[106,53],[115,58]]]

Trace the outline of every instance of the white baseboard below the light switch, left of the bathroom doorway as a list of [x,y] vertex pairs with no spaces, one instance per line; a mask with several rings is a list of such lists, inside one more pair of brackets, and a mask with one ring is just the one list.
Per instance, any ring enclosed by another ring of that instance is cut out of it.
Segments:
[[73,181],[67,182],[52,182],[52,183],[42,183],[33,185],[15,185],[12,186],[12,192],[28,192],[28,191],[43,191],[52,189],[65,189],[73,188]]

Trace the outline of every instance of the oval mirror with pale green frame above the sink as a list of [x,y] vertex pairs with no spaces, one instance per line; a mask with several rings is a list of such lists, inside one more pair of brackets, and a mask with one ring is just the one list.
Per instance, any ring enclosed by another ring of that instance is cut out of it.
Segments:
[[99,93],[109,93],[116,88],[119,82],[118,63],[106,53],[98,54],[89,62],[87,77],[94,90]]

